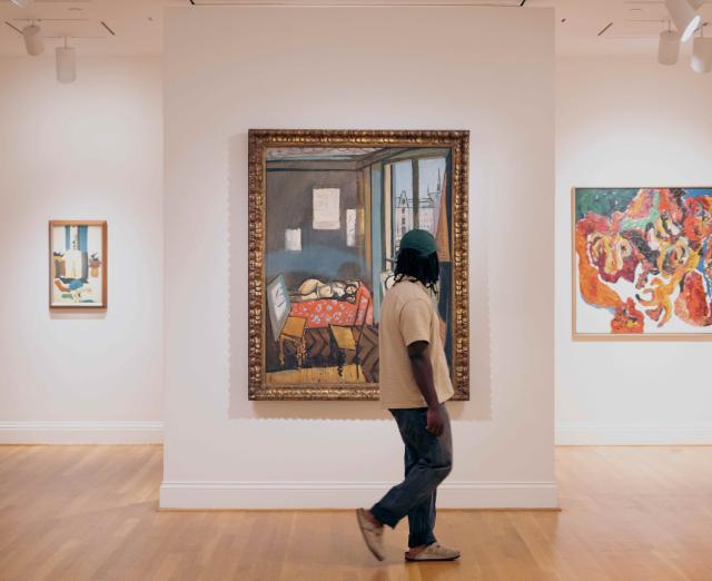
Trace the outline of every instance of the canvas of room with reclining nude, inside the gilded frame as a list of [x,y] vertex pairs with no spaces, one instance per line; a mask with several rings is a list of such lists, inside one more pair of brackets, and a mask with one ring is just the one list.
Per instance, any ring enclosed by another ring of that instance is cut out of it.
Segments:
[[413,228],[437,242],[452,365],[452,149],[269,147],[264,168],[264,384],[377,395],[380,304]]

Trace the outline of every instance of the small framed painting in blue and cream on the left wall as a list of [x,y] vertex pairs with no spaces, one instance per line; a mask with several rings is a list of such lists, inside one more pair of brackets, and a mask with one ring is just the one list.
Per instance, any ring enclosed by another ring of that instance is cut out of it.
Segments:
[[50,308],[107,307],[107,223],[49,223]]

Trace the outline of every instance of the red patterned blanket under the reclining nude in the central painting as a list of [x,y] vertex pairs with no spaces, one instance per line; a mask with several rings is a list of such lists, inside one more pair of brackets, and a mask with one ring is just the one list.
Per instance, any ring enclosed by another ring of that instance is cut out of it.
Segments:
[[374,324],[374,305],[370,292],[364,284],[358,286],[356,301],[337,301],[335,298],[318,298],[294,303],[289,316],[307,319],[307,328],[325,328],[329,325],[344,327],[359,327]]

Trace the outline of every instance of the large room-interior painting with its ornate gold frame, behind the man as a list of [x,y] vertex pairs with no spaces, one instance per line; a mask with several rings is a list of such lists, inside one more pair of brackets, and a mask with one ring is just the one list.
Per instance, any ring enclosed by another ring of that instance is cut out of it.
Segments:
[[403,235],[437,239],[433,301],[467,400],[467,131],[249,131],[249,398],[377,400]]

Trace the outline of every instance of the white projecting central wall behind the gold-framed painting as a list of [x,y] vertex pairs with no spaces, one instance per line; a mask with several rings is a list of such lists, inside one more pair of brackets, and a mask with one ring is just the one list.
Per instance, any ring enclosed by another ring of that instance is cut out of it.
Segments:
[[553,22],[472,7],[167,10],[162,506],[353,506],[403,470],[377,402],[247,401],[247,130],[268,127],[472,131],[473,400],[451,406],[442,499],[556,504]]

